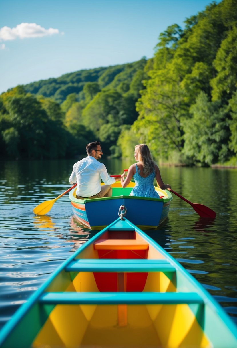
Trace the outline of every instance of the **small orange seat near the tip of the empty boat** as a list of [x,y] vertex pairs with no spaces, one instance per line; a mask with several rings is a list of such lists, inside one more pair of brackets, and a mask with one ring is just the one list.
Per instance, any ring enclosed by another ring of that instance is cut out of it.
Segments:
[[149,244],[142,239],[99,239],[96,250],[148,250]]

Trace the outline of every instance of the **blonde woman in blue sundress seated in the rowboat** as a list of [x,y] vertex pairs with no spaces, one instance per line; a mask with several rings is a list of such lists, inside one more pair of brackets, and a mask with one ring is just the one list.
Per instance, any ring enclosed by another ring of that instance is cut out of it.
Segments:
[[134,158],[138,163],[132,164],[128,169],[128,175],[123,181],[121,178],[122,187],[128,186],[132,177],[135,181],[135,186],[130,193],[130,196],[159,198],[155,191],[153,182],[156,182],[162,190],[171,188],[169,184],[165,185],[161,179],[161,173],[158,166],[152,159],[150,150],[146,144],[139,144],[135,146]]

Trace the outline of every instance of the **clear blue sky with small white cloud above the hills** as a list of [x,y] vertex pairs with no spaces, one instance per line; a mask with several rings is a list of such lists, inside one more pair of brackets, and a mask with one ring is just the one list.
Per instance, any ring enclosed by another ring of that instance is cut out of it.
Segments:
[[[216,0],[219,3],[221,0]],[[158,37],[211,0],[0,0],[0,93],[151,58]]]

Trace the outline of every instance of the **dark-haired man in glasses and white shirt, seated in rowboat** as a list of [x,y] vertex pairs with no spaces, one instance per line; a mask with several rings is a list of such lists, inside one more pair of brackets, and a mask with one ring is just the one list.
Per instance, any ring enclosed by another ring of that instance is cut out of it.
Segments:
[[[106,166],[98,162],[103,152],[100,142],[93,141],[86,146],[88,156],[76,162],[69,182],[73,184],[77,181],[76,198],[100,198],[112,196],[111,185],[120,180],[108,175]],[[124,173],[121,175],[124,177]],[[100,185],[101,179],[105,185]]]

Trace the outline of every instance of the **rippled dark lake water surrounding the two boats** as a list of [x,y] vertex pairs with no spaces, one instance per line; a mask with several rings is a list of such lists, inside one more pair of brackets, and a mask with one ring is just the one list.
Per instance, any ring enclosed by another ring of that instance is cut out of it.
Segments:
[[[110,174],[130,162],[104,161]],[[63,260],[96,232],[75,220],[68,196],[51,211],[32,209],[66,191],[74,160],[0,162],[0,327]],[[172,254],[237,324],[237,171],[162,167],[164,182],[216,211],[201,219],[174,196],[168,219],[147,234]]]

